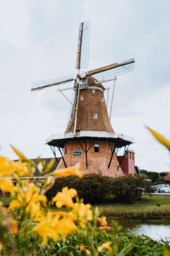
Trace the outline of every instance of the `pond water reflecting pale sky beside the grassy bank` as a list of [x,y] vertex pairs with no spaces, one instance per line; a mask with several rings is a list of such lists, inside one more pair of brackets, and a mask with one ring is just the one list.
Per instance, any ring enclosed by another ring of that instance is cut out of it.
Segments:
[[[117,222],[122,226],[124,231],[135,234],[145,234],[153,240],[170,240],[170,220],[133,220],[133,219],[118,219]],[[112,218],[109,218],[108,223],[112,225]]]

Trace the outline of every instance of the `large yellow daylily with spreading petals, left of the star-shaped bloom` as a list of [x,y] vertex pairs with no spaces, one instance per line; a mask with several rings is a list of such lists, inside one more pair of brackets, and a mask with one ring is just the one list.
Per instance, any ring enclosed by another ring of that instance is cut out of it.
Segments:
[[[25,185],[25,182],[23,183]],[[9,206],[9,209],[14,207],[25,207],[27,213],[34,213],[38,205],[36,203],[42,202],[46,204],[47,198],[44,195],[40,195],[40,189],[35,186],[34,183],[28,183],[26,186],[14,189],[14,199]],[[34,214],[33,214],[34,215]]]

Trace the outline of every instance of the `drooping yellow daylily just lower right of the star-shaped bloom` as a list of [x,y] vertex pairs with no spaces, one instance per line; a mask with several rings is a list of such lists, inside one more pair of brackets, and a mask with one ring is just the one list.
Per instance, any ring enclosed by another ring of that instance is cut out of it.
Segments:
[[72,206],[72,213],[75,220],[79,221],[81,227],[85,227],[85,223],[87,220],[92,220],[93,215],[92,211],[90,210],[90,204],[84,203],[75,203]]

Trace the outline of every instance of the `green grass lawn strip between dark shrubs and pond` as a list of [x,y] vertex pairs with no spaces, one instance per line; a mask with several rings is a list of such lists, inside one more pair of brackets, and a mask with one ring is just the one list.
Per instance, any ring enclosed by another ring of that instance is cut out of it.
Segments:
[[114,203],[98,206],[101,214],[117,218],[170,218],[170,195],[144,195],[143,200],[135,204]]

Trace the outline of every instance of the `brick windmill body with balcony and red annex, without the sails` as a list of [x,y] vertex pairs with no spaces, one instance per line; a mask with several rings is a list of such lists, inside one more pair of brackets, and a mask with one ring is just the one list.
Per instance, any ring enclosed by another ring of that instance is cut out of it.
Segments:
[[[133,140],[114,132],[107,113],[104,91],[102,84],[89,77],[87,85],[79,89],[77,108],[75,110],[75,99],[64,134],[52,135],[47,140],[54,155],[56,148],[61,153],[62,158],[57,168],[80,163],[84,174],[95,172],[119,176],[136,173],[134,153],[126,151]],[[75,125],[76,132],[73,132]],[[116,156],[118,149],[122,147],[125,148],[124,155]]]

